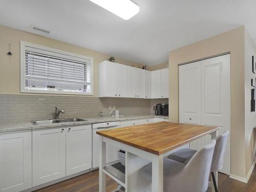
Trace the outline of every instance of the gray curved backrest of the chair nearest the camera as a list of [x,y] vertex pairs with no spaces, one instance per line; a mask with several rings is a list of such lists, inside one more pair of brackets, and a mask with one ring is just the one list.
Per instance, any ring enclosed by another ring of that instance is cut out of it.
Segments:
[[212,156],[214,155],[216,140],[198,150],[185,165],[179,178],[182,180],[182,191],[204,192],[208,187]]

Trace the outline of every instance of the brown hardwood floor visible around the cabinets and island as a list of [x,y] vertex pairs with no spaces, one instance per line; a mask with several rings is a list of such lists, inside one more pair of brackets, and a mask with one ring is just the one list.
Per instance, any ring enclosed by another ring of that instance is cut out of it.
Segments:
[[[254,167],[249,182],[242,183],[219,173],[219,192],[255,192],[256,168]],[[116,189],[117,185],[110,177],[106,179],[108,192]],[[36,192],[96,192],[98,189],[98,170],[77,176],[75,178],[36,190]],[[208,190],[210,191],[210,190]]]

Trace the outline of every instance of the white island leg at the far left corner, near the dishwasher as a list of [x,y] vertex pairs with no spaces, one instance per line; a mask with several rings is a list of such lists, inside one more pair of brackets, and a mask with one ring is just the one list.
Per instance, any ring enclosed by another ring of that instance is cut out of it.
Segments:
[[99,192],[106,191],[106,174],[102,168],[106,166],[106,143],[103,142],[102,136],[99,136]]

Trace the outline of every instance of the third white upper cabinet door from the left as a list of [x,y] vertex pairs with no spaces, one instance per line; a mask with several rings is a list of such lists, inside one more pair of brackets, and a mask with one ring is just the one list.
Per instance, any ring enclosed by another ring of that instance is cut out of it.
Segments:
[[124,66],[124,68],[124,97],[135,97],[134,68],[130,66]]

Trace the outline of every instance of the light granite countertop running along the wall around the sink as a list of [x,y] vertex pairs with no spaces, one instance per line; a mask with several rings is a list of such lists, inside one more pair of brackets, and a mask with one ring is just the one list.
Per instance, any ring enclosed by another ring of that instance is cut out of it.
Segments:
[[[58,126],[69,126],[69,125],[78,125],[78,124],[91,124],[91,123],[100,123],[108,121],[124,121],[124,120],[133,120],[133,119],[146,119],[146,118],[164,118],[168,119],[168,116],[159,116],[159,115],[125,115],[120,117],[95,117],[95,118],[81,118],[87,121],[77,121],[77,122],[60,122],[60,123],[49,123],[49,124],[40,124],[33,125],[31,122],[18,122],[18,123],[0,123],[0,133],[10,132],[10,131],[22,131],[22,130],[34,130],[34,129],[46,129],[50,127]],[[39,120],[39,119],[38,119]]]

